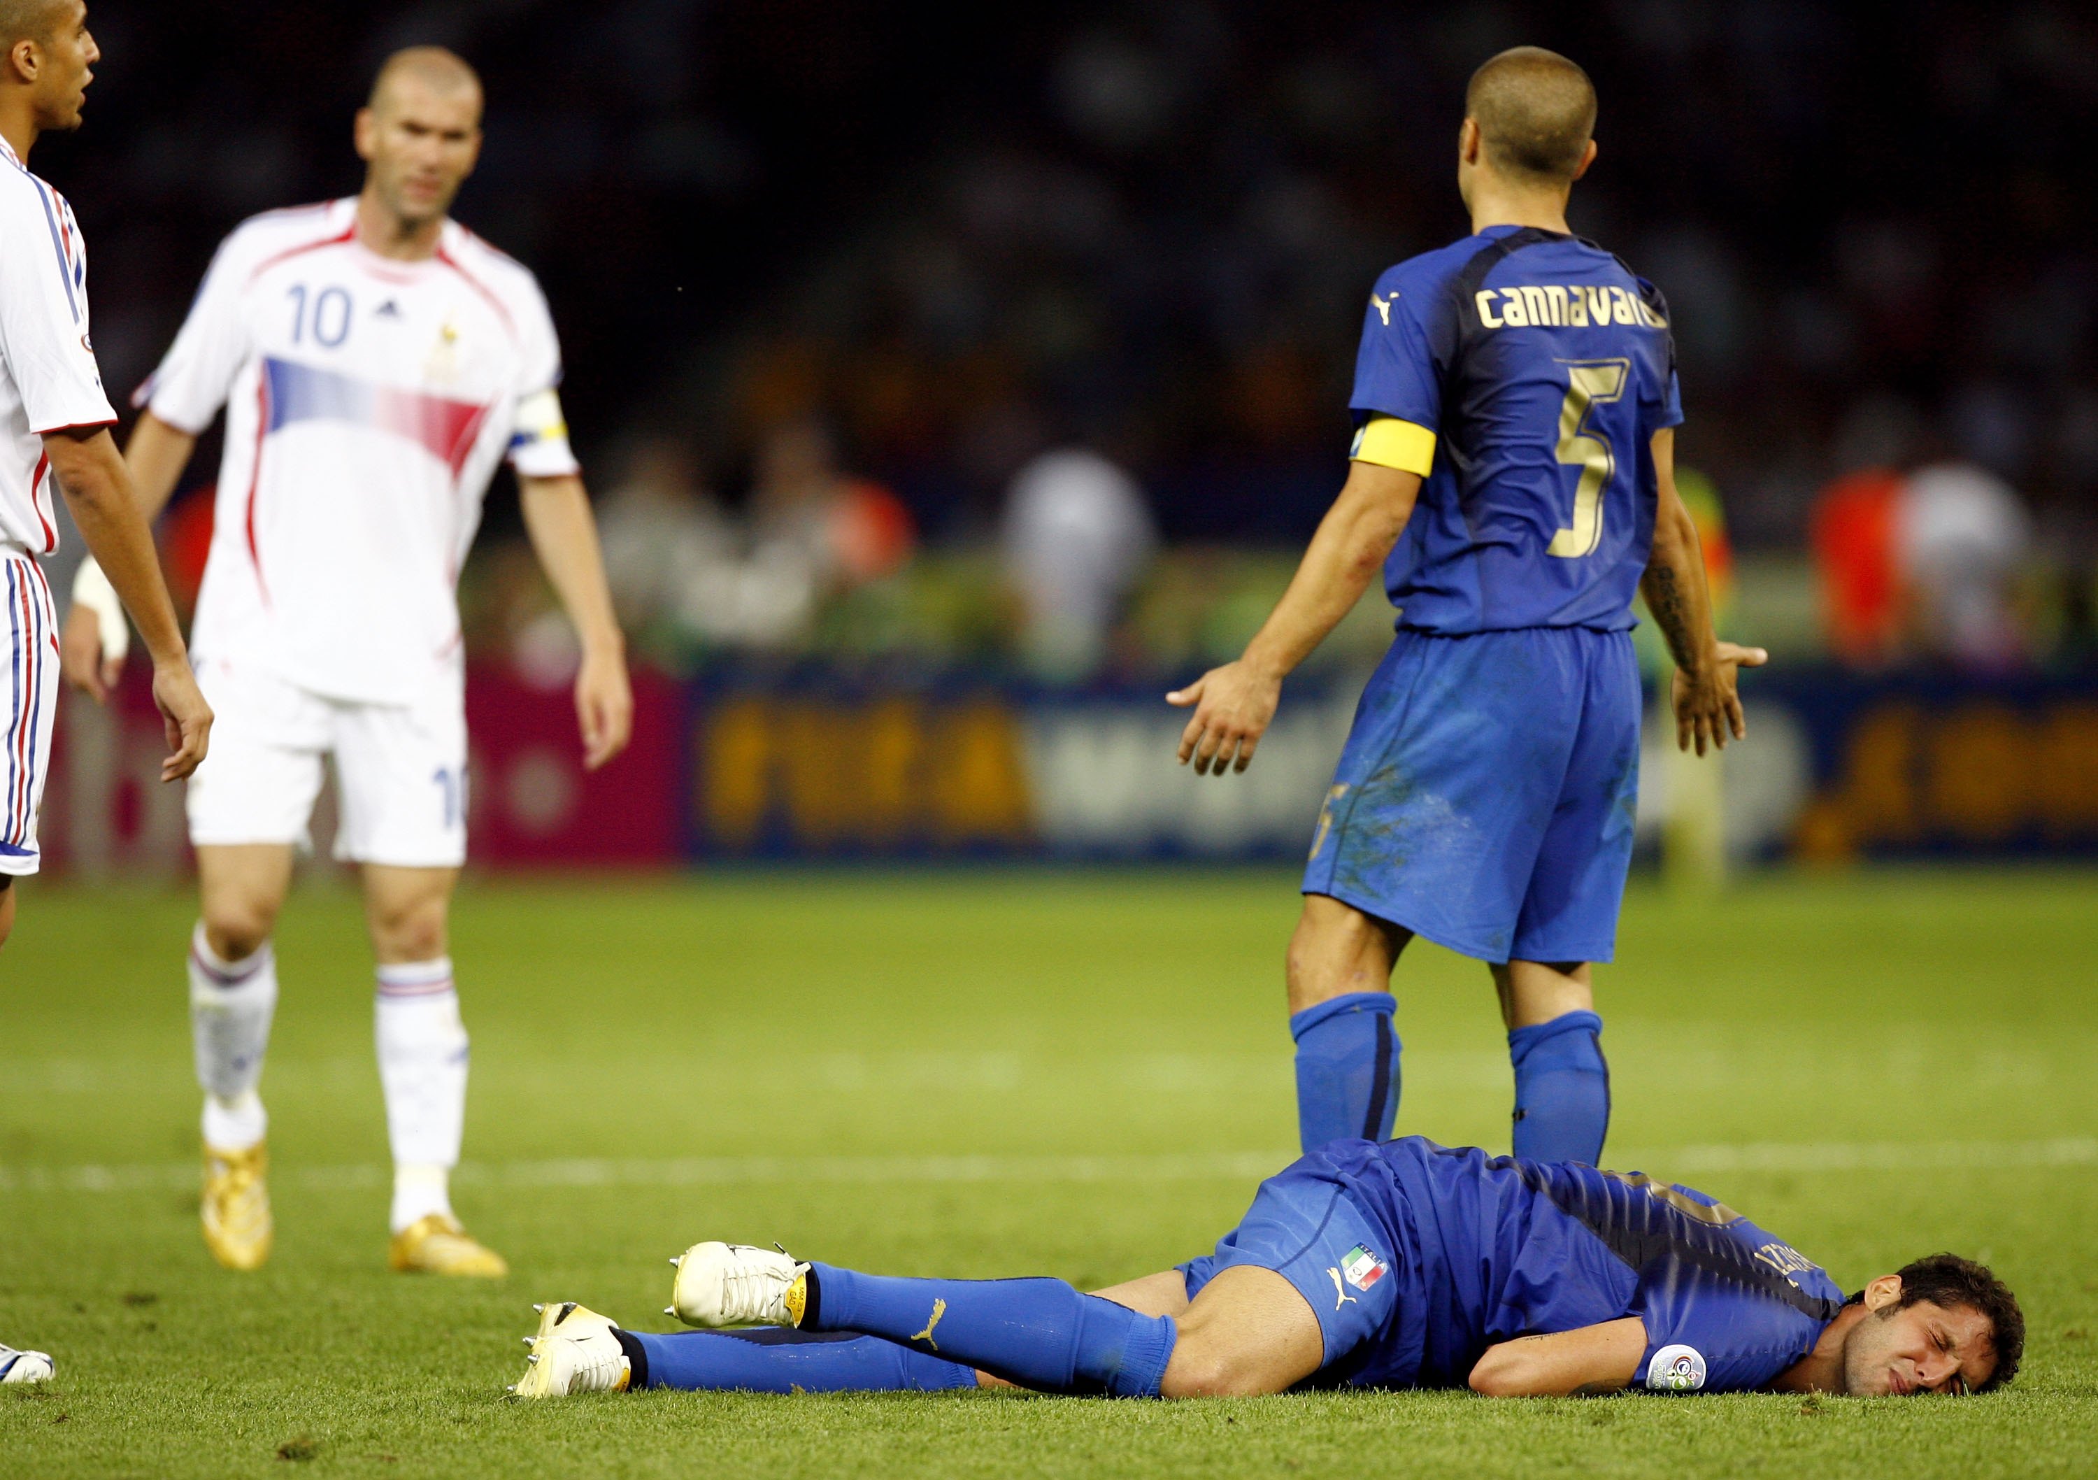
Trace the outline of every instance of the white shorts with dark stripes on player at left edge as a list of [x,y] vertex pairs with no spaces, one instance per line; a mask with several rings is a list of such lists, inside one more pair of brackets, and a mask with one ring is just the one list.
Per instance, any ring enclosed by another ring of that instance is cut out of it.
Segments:
[[36,873],[36,812],[50,770],[50,722],[59,714],[59,615],[44,571],[21,550],[0,548],[0,873]]

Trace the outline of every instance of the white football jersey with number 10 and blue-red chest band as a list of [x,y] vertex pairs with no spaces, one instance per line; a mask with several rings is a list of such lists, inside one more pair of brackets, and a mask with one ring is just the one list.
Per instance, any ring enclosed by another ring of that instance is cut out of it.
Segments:
[[334,699],[407,703],[457,663],[459,563],[510,456],[575,472],[539,283],[457,223],[436,256],[357,241],[357,202],[233,231],[134,403],[227,407],[191,647]]

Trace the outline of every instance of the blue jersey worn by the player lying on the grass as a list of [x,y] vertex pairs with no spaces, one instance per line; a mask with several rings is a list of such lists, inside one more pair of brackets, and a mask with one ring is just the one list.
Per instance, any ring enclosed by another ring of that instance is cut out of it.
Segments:
[[[1462,1388],[1498,1341],[1639,1316],[1647,1354],[1634,1386],[1735,1392],[1806,1356],[1842,1308],[1836,1283],[1790,1245],[1641,1174],[1420,1136],[1334,1142],[1299,1167],[1322,1159],[1389,1241],[1357,1257],[1387,1262],[1393,1283],[1380,1329],[1322,1381]],[[1347,1255],[1339,1266],[1347,1272]]]

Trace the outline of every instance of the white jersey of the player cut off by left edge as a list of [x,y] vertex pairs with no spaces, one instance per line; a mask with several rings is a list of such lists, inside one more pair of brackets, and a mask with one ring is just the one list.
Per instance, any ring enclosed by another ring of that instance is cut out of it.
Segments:
[[59,548],[44,432],[115,420],[88,340],[80,223],[0,139],[0,546]]

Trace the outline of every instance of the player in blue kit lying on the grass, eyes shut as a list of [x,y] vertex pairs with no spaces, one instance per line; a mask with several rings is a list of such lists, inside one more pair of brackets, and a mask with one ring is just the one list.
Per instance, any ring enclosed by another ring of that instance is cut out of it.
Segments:
[[883,1278],[724,1243],[673,1264],[665,1314],[772,1329],[638,1335],[573,1302],[541,1306],[512,1392],[1960,1394],[2008,1383],[2025,1348],[2018,1302],[1957,1255],[1846,1302],[1704,1192],[1418,1136],[1332,1142],[1263,1182],[1213,1255],[1097,1295],[1057,1278]]

